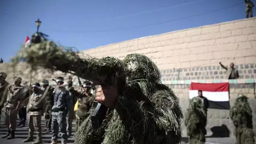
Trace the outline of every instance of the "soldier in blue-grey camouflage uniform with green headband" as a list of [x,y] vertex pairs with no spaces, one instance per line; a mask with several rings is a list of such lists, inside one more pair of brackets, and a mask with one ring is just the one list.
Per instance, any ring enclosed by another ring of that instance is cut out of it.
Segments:
[[54,103],[52,107],[53,136],[51,144],[57,144],[58,131],[60,128],[61,144],[67,143],[67,121],[66,116],[70,111],[69,91],[63,87],[64,78],[57,77],[58,88],[54,91]]

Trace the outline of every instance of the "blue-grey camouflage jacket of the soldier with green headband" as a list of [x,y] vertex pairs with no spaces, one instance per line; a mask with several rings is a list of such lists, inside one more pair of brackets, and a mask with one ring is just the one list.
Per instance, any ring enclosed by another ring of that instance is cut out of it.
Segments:
[[70,111],[69,91],[66,88],[59,87],[55,89],[52,111]]

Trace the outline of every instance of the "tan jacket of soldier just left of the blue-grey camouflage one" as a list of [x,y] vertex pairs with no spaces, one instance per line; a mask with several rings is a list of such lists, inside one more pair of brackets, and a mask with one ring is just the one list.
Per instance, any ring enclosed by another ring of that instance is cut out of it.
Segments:
[[38,93],[32,93],[32,95],[29,98],[28,102],[28,113],[29,115],[42,115],[46,106],[45,99],[43,99],[41,102],[38,100],[43,96],[44,91],[39,90]]

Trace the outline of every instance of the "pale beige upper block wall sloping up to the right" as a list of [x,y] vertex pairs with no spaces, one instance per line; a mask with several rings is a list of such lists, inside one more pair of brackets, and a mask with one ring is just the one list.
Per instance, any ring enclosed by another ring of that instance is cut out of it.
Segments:
[[256,18],[177,30],[82,51],[95,57],[140,53],[160,69],[255,63]]

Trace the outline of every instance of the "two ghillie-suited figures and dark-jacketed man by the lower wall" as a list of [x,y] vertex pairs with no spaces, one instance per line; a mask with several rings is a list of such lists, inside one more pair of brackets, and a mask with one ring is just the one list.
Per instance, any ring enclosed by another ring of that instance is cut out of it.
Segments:
[[[198,96],[190,100],[185,114],[185,126],[190,144],[205,142],[208,107],[208,99],[202,96],[202,90],[198,90]],[[235,126],[236,144],[254,144],[252,109],[245,95],[238,95],[230,109],[230,118]]]

